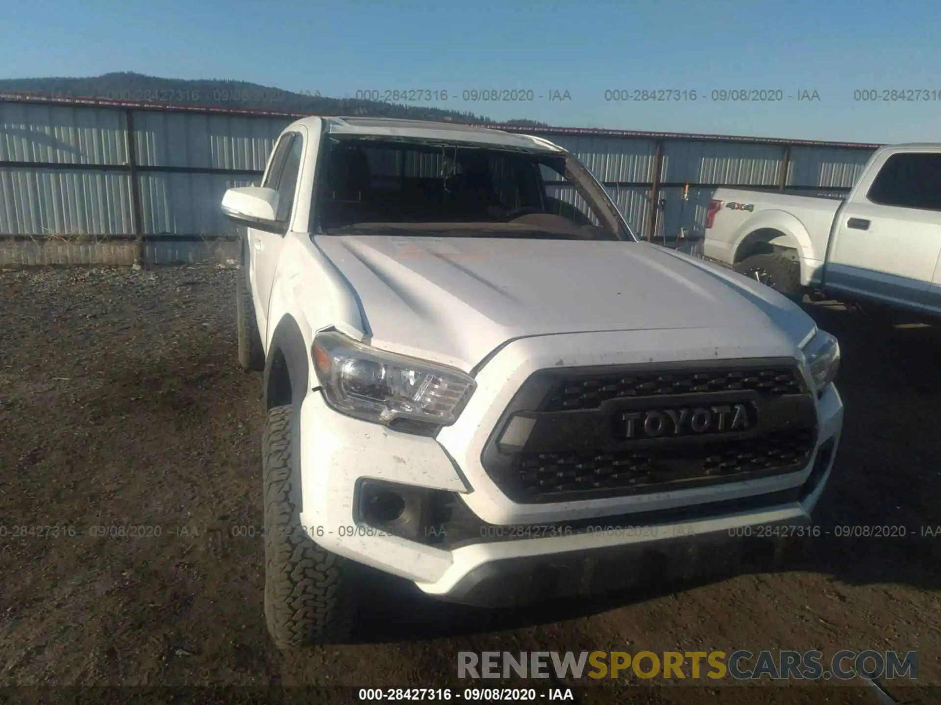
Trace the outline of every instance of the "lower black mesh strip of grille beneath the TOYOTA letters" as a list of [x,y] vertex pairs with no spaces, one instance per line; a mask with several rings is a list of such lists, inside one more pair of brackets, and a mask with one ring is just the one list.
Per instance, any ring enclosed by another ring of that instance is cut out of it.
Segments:
[[646,452],[591,449],[559,453],[519,453],[513,478],[530,495],[583,490],[676,489],[701,480],[743,479],[782,467],[805,465],[814,448],[810,431],[784,431],[762,438],[730,441],[711,449],[668,446]]

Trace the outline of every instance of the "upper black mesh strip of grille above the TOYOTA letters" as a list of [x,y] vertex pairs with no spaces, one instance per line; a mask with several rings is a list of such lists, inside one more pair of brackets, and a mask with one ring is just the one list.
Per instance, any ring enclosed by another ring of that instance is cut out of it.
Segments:
[[551,391],[544,411],[596,409],[602,401],[665,394],[708,393],[754,389],[762,394],[794,394],[801,379],[793,368],[713,369],[663,374],[609,374],[563,380]]

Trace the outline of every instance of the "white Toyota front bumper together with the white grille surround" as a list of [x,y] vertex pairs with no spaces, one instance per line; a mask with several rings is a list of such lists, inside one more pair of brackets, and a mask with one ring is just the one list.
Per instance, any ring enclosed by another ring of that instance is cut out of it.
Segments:
[[[529,601],[547,590],[587,594],[646,582],[657,574],[651,566],[664,562],[672,566],[668,573],[681,575],[704,561],[715,563],[714,556],[703,556],[732,551],[734,534],[743,527],[787,525],[796,532],[806,525],[842,429],[843,404],[833,385],[815,401],[815,450],[803,469],[787,474],[542,504],[514,502],[488,478],[481,453],[490,431],[535,370],[563,361],[570,367],[636,365],[661,360],[663,351],[676,361],[800,357],[774,328],[519,339],[475,375],[478,387],[468,407],[437,438],[338,414],[312,390],[300,415],[301,524],[340,556],[413,581],[429,595],[482,604]],[[437,544],[370,530],[359,523],[356,507],[358,488],[367,479],[450,493],[472,521],[462,525],[460,540]],[[579,528],[569,532],[566,523]],[[585,530],[586,523],[592,530]],[[548,528],[531,532],[534,525]],[[502,595],[502,578],[517,588]]]

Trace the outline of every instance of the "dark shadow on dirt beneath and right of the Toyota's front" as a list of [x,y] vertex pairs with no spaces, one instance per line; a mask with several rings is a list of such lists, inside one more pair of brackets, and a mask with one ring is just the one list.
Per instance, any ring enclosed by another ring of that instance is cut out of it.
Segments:
[[360,628],[359,640],[401,642],[579,619],[762,572],[816,572],[850,586],[941,589],[941,533],[933,535],[941,529],[936,499],[941,434],[933,425],[941,399],[936,373],[941,330],[919,322],[873,321],[833,303],[809,305],[808,312],[840,341],[837,387],[846,406],[837,462],[814,515],[820,537],[797,540],[774,564],[752,556],[734,570],[692,580],[516,609],[439,603],[417,587],[376,573],[370,591],[383,600],[371,602],[382,606],[375,614],[366,607],[361,624],[371,626]]

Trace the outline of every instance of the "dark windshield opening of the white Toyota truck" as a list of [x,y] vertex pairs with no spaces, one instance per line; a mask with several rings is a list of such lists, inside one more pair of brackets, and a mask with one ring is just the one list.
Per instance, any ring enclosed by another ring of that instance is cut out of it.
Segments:
[[565,153],[363,138],[326,147],[314,231],[633,240],[598,182]]

